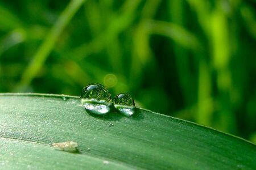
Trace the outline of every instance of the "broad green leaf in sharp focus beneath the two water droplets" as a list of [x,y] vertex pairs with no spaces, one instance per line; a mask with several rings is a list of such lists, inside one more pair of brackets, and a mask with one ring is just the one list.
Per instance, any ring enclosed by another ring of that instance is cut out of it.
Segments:
[[[1,169],[256,168],[253,143],[145,109],[96,117],[75,96],[1,94],[0,113]],[[65,141],[79,153],[51,146]]]

